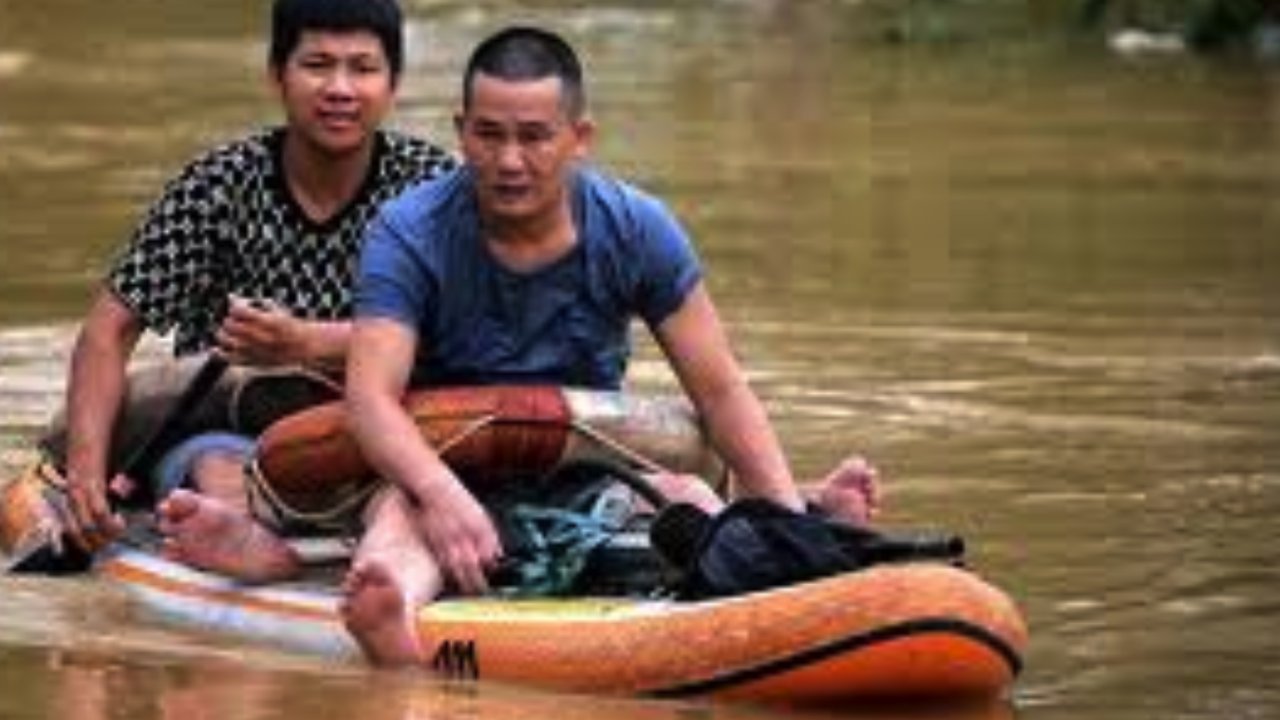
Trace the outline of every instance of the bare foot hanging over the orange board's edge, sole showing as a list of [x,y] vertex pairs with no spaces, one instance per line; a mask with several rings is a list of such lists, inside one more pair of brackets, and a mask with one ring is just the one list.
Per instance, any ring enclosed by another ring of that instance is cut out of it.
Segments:
[[416,605],[406,601],[385,566],[376,560],[357,562],[347,573],[342,592],[338,611],[370,662],[383,666],[422,662],[413,623]]

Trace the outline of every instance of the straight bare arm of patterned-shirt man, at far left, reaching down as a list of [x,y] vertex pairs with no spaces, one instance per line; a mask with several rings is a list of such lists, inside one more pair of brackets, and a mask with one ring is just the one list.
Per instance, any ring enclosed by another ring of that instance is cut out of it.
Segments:
[[108,455],[142,323],[109,290],[90,307],[72,351],[67,386],[67,487],[72,538],[92,552],[123,532],[106,502]]

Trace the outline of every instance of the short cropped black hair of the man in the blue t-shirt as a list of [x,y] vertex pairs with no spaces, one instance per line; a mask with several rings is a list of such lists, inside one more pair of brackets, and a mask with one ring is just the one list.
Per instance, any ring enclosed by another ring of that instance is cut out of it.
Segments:
[[579,119],[586,111],[582,64],[573,47],[548,29],[512,26],[476,46],[462,76],[463,109],[471,106],[471,83],[476,73],[506,81],[559,78],[566,114]]

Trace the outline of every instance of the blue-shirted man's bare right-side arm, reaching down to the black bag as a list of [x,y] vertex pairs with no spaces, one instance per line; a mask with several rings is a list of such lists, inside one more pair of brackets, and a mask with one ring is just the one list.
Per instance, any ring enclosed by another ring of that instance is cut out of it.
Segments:
[[663,320],[655,336],[707,423],[712,443],[742,489],[801,510],[778,438],[733,357],[716,306],[701,283]]

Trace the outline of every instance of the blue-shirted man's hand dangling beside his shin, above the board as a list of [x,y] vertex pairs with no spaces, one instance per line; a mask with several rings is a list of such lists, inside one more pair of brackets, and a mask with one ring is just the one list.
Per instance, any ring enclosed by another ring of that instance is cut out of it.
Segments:
[[445,578],[463,594],[489,591],[488,571],[502,559],[498,530],[479,501],[456,478],[419,497],[419,528]]

